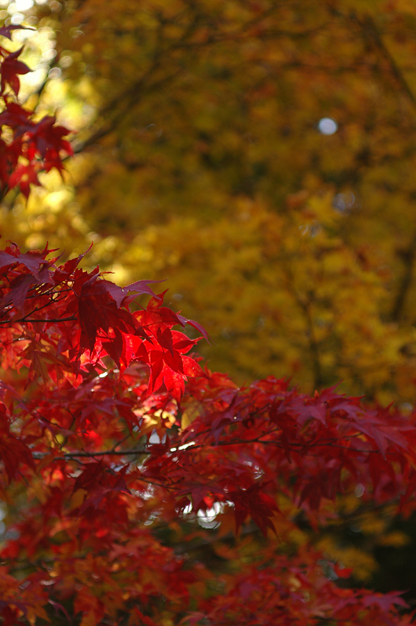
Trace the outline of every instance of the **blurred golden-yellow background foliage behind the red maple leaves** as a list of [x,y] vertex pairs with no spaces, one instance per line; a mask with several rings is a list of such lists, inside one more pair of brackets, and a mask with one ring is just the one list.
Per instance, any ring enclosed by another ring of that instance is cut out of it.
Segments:
[[[170,305],[211,336],[209,367],[238,383],[341,381],[413,410],[413,0],[0,9],[36,29],[14,35],[38,68],[22,101],[72,128],[76,151],[64,181],[45,175],[27,204],[6,196],[3,239],[64,256],[93,241],[86,262],[113,280],[166,279]],[[378,556],[390,572],[402,559],[394,587],[415,587],[409,527],[354,502],[319,545],[363,582]]]

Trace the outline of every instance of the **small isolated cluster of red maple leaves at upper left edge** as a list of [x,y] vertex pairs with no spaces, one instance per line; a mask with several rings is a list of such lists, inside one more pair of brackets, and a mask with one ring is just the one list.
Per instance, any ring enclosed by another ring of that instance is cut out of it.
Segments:
[[[11,39],[11,31],[22,28],[3,26],[0,35]],[[46,115],[35,122],[34,112],[24,109],[17,101],[19,75],[30,72],[19,61],[22,49],[10,52],[0,46],[0,191],[3,196],[19,186],[27,198],[31,184],[40,185],[40,171],[63,170],[62,154],[72,154],[72,147],[64,139],[70,131],[57,126],[53,116]]]

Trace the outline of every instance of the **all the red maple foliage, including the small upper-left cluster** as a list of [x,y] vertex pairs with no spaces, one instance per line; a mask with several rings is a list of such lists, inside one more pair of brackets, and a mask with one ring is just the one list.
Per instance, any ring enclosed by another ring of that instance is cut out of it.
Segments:
[[[22,65],[2,55],[17,93]],[[60,170],[67,131],[19,127],[2,98],[2,182],[29,193],[13,175]],[[400,590],[353,588],[315,536],[413,513],[415,415],[273,376],[237,387],[159,284],[83,261],[0,252],[3,623],[410,624]]]

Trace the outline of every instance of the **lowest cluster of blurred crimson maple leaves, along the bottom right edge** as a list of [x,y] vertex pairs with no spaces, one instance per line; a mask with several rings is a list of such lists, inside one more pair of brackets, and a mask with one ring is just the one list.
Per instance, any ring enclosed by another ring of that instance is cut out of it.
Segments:
[[[280,556],[273,564],[262,568],[256,565],[243,575],[237,574],[232,577],[227,596],[210,598],[202,603],[202,611],[186,616],[182,624],[200,625],[204,618],[216,626],[232,623],[291,626],[327,620],[342,625],[394,624],[390,610],[395,604],[406,607],[400,595],[339,588],[322,575],[318,565],[320,556],[313,552],[303,558]],[[233,622],[236,612],[238,620]],[[410,623],[410,618],[401,623]]]

